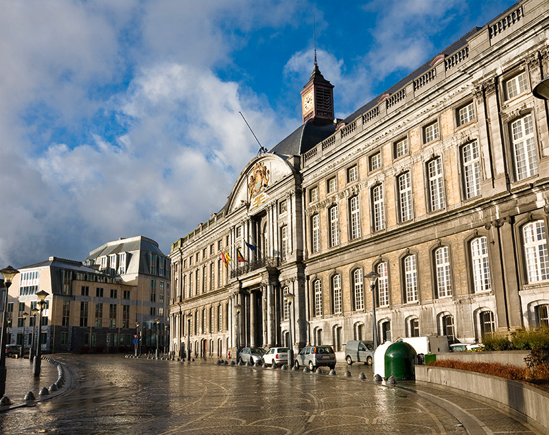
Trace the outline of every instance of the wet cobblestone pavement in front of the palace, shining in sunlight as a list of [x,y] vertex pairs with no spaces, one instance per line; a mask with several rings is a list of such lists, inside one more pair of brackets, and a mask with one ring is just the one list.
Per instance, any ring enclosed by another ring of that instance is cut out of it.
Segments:
[[[371,379],[371,368],[356,364],[344,377],[347,364],[328,376],[215,360],[55,359],[71,369],[71,386],[55,399],[0,414],[1,434],[467,434],[462,423],[476,425],[471,434],[538,433],[446,390],[360,380],[360,372]],[[456,410],[470,421],[458,420]]]

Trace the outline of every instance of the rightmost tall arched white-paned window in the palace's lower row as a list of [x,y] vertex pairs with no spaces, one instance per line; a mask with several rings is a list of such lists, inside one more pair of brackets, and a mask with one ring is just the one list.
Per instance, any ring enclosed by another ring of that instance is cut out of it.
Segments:
[[530,222],[522,227],[528,283],[549,279],[546,229],[543,220]]

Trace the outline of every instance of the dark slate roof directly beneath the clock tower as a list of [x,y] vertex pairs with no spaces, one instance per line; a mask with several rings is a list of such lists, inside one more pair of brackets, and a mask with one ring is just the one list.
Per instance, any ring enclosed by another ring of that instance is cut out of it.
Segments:
[[330,137],[334,132],[336,132],[334,122],[308,119],[305,124],[301,124],[297,130],[275,145],[270,152],[286,156],[299,156],[314,148],[317,143]]

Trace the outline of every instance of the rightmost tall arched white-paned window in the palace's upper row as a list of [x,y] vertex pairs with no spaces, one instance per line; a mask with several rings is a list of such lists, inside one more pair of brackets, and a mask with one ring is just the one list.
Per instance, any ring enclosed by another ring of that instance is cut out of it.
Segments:
[[522,180],[538,173],[532,114],[511,123],[515,175]]

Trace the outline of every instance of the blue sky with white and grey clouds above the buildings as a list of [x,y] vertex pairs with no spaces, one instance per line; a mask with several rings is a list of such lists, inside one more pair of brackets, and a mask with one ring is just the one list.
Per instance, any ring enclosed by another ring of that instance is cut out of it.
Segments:
[[0,0],[0,265],[165,254],[301,124],[318,64],[345,117],[513,1]]

